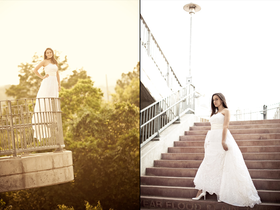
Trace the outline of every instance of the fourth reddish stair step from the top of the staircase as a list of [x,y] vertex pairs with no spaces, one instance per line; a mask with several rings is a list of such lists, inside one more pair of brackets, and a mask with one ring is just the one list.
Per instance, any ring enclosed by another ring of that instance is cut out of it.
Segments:
[[[280,139],[280,133],[233,134],[234,140]],[[204,141],[206,135],[180,136],[180,141]]]

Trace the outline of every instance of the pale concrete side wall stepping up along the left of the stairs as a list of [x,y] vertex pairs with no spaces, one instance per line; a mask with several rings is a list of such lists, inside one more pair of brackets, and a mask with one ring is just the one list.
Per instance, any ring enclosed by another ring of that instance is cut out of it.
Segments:
[[154,160],[161,159],[161,153],[167,153],[168,147],[174,147],[174,141],[179,141],[190,126],[200,122],[200,118],[194,114],[184,114],[180,124],[171,124],[160,133],[159,141],[150,141],[140,149],[140,175],[145,175],[147,167],[154,166]]

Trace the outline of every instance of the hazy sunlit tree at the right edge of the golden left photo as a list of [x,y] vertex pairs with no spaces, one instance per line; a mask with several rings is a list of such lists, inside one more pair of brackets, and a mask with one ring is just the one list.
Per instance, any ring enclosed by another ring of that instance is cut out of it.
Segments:
[[112,94],[114,101],[129,101],[140,107],[140,62],[134,67],[133,72],[122,73],[115,91],[116,94]]

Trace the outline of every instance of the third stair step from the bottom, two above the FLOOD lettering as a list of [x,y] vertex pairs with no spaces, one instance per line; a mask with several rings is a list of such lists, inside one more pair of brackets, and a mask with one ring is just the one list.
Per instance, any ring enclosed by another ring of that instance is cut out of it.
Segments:
[[[280,180],[252,179],[257,190],[280,190]],[[141,185],[195,187],[194,177],[141,176]]]

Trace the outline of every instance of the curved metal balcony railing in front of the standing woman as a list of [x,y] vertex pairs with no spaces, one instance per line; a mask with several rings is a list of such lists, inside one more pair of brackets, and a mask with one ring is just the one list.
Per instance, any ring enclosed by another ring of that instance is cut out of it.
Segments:
[[62,151],[61,112],[60,98],[0,101],[0,155]]

